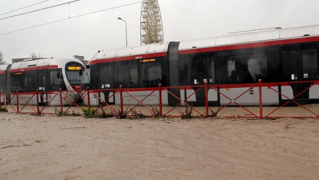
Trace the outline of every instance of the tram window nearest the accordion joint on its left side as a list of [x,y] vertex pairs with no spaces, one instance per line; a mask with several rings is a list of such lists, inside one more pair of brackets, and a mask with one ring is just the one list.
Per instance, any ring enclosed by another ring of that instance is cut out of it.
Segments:
[[140,66],[142,87],[157,87],[161,83],[162,69],[159,63],[145,63]]

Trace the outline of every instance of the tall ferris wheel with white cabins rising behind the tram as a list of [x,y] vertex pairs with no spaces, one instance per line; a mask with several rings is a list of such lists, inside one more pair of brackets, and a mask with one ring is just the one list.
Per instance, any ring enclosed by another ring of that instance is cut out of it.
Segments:
[[162,17],[157,0],[143,0],[140,26],[141,45],[164,41]]

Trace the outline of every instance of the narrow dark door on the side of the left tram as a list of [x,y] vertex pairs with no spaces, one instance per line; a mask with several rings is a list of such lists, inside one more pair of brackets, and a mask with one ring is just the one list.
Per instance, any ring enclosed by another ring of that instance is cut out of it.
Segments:
[[45,97],[48,99],[47,94],[44,92],[47,91],[47,70],[38,70],[37,71],[37,78],[38,78],[38,91],[42,95],[39,95],[39,105],[45,106],[47,101],[43,98]]

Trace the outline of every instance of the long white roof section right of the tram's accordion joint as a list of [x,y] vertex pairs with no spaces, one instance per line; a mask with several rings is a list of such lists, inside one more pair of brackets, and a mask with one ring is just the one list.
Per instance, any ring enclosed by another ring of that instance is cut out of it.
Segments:
[[303,37],[304,35],[319,35],[319,25],[292,28],[277,27],[264,30],[251,30],[246,32],[229,33],[227,35],[211,38],[182,41],[180,42],[178,50],[192,49],[192,47],[194,46],[196,46],[196,48],[204,48],[259,41],[290,39],[296,37]]

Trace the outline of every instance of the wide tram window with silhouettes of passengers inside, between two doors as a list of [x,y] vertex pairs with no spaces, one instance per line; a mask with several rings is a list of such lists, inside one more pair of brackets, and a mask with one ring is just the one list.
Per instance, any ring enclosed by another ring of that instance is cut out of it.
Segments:
[[264,54],[228,58],[228,83],[256,83],[267,77],[267,57]]

